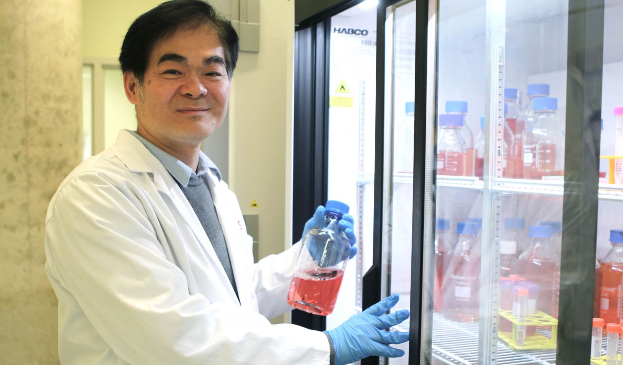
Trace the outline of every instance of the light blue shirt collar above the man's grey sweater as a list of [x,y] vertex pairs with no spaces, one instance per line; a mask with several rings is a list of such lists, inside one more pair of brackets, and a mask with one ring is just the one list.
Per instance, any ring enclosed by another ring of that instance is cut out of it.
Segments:
[[164,168],[166,168],[166,171],[169,171],[169,174],[171,174],[171,176],[173,176],[173,178],[176,179],[181,186],[188,187],[188,181],[191,178],[207,173],[208,169],[211,170],[217,178],[219,178],[219,181],[221,181],[221,171],[219,171],[216,164],[214,164],[212,160],[209,159],[202,151],[199,151],[199,164],[197,164],[197,172],[195,173],[193,169],[188,167],[187,164],[156,147],[156,145],[150,141],[139,136],[136,131],[126,131],[130,132],[139,141],[141,141],[141,143],[143,143],[143,145],[150,150],[151,154],[156,156],[158,161],[160,161]]

